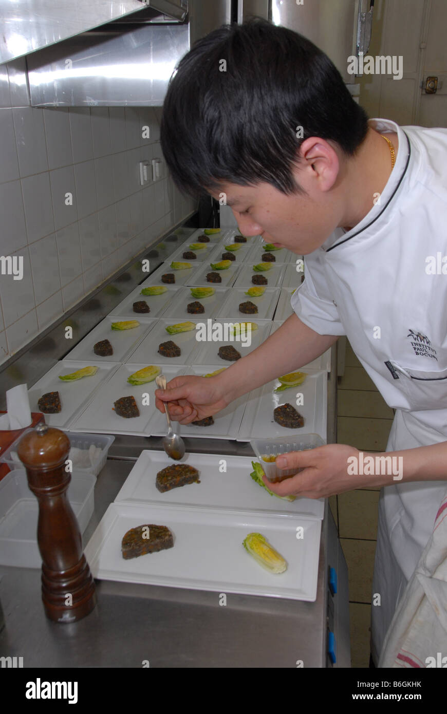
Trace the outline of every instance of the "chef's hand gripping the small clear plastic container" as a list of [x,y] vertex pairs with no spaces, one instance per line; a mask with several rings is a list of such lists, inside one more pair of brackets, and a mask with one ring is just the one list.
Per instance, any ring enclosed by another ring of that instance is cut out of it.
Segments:
[[[266,476],[263,482],[278,496],[301,496],[303,498],[327,498],[354,488],[373,486],[380,488],[390,483],[383,476],[351,476],[348,474],[350,456],[358,459],[359,451],[346,444],[328,444],[306,451],[290,451],[276,457],[281,468],[303,468],[295,476],[280,483],[271,483]],[[358,463],[358,461],[357,461]]]

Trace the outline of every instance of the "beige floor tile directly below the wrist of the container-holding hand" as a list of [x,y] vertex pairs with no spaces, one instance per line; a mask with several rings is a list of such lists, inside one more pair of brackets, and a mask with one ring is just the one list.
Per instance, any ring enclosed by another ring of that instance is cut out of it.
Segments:
[[340,538],[376,540],[378,491],[347,491],[338,495]]

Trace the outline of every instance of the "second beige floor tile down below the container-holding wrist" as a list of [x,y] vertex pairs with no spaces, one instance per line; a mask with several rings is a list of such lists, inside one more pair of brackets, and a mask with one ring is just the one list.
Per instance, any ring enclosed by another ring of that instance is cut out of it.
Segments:
[[349,600],[370,604],[376,542],[341,538],[340,543],[348,565]]

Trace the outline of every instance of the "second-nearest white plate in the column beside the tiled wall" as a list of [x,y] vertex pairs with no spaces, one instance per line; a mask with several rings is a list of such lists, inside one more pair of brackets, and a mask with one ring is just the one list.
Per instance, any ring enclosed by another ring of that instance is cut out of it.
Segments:
[[[128,320],[136,320],[139,322],[138,327],[133,327],[130,330],[112,330],[111,323]],[[137,344],[151,331],[156,324],[153,318],[146,315],[127,316],[108,315],[103,321],[84,337],[81,342],[68,353],[68,359],[90,360],[94,359],[100,362],[124,362],[126,357],[136,348]],[[93,351],[96,342],[101,340],[109,340],[114,348],[113,355],[101,357]]]

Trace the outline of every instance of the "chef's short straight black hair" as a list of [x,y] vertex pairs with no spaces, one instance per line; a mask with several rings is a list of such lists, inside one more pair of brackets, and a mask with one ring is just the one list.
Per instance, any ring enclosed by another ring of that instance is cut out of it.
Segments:
[[221,26],[181,59],[164,101],[161,149],[183,193],[262,181],[291,194],[303,192],[292,171],[304,139],[331,139],[353,156],[367,121],[323,51],[255,19]]

